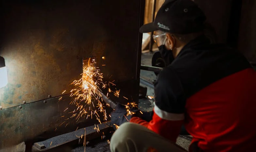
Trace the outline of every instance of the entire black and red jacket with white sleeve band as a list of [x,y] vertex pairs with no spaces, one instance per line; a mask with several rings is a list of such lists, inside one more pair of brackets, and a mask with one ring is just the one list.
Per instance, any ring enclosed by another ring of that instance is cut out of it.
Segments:
[[255,95],[256,72],[247,59],[200,36],[158,75],[152,120],[130,121],[173,142],[184,124],[205,152],[253,151]]

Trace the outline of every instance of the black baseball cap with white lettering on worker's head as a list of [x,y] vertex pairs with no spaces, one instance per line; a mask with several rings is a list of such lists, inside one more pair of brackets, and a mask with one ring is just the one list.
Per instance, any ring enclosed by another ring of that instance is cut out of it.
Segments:
[[156,30],[188,34],[202,31],[206,17],[192,0],[166,0],[152,23],[141,26],[141,33]]

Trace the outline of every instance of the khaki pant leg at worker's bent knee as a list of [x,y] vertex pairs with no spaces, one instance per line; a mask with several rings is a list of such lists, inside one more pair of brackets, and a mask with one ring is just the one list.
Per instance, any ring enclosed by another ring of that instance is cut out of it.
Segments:
[[147,152],[150,147],[157,152],[186,152],[168,139],[132,122],[120,125],[110,141],[111,152]]

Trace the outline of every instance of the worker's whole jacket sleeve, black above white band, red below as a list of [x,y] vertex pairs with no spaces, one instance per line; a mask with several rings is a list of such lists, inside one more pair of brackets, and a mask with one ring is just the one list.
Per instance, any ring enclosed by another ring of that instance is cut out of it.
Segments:
[[176,142],[184,122],[186,95],[182,83],[171,66],[162,70],[154,84],[155,102],[150,122],[134,117],[139,123],[159,135]]

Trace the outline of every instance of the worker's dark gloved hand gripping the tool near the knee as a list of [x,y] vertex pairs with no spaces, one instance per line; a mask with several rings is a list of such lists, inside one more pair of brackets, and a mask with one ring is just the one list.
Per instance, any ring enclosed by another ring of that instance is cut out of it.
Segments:
[[[138,109],[130,109],[130,111],[132,113],[139,112]],[[130,121],[133,115],[132,113],[129,114],[129,112],[125,108],[125,105],[118,103],[115,110],[110,114],[111,123],[120,126],[122,123]]]

